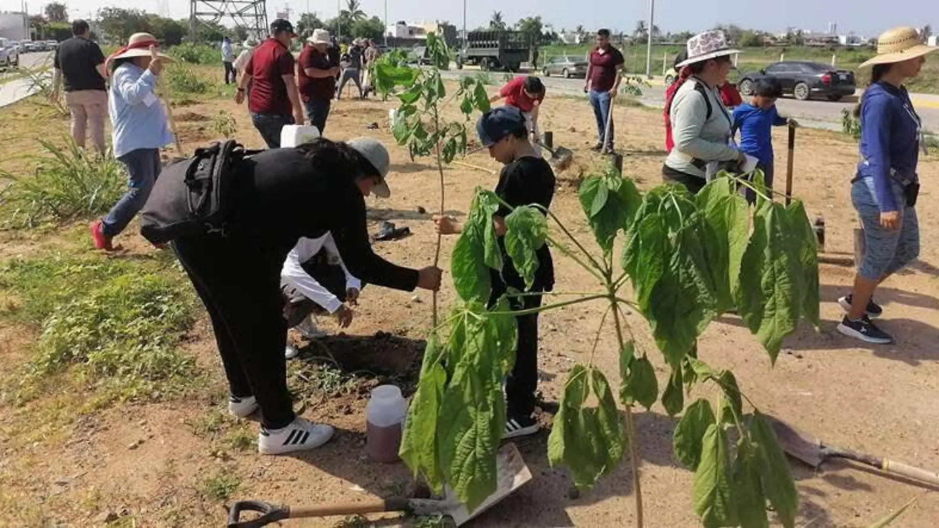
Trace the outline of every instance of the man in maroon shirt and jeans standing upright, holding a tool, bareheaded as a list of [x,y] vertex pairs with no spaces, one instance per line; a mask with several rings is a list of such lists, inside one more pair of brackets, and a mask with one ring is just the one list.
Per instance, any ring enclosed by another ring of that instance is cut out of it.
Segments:
[[[623,69],[623,53],[609,44],[609,30],[596,32],[596,48],[590,53],[587,67],[587,83],[584,92],[590,94],[590,104],[596,117],[597,143],[593,150],[613,151],[613,122],[609,120],[613,98],[620,89],[620,70]],[[609,130],[607,122],[609,120]]]

